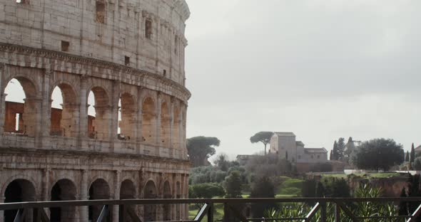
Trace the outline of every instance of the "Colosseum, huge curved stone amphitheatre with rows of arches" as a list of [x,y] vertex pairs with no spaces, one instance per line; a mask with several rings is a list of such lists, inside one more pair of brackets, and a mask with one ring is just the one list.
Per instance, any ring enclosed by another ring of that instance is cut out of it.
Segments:
[[[186,198],[189,16],[185,0],[0,0],[0,202]],[[19,83],[25,98],[11,102]],[[93,221],[99,210],[47,214]],[[136,211],[188,216],[183,205]]]

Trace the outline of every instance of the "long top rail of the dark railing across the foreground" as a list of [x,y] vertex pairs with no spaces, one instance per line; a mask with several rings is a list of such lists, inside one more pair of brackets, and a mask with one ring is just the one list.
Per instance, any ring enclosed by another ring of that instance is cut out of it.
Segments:
[[421,202],[421,197],[381,197],[381,198],[255,198],[255,199],[128,199],[128,200],[76,200],[76,201],[39,201],[0,203],[0,211],[18,208],[49,208],[64,206],[93,205],[158,205],[158,204],[188,204],[188,203],[305,203],[305,202]]

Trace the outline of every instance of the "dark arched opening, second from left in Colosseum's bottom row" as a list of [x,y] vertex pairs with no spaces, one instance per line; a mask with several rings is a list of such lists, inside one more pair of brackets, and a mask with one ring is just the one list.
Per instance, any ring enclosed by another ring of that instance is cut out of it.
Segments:
[[[51,189],[51,201],[73,201],[76,200],[76,186],[69,179],[61,179]],[[75,207],[66,206],[63,208],[50,208],[50,221],[74,221]]]

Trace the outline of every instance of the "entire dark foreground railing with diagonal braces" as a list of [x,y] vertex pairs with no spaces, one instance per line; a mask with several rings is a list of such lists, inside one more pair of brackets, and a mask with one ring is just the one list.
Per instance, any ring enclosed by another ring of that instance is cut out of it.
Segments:
[[[214,221],[214,205],[222,203],[224,212],[230,212],[238,221],[302,221],[307,222],[315,219],[316,213],[320,213],[318,221],[326,222],[328,215],[334,216],[334,221],[341,221],[341,216],[350,218],[351,221],[365,221],[366,219],[377,219],[378,221],[394,221],[398,218],[405,219],[406,222],[416,221],[421,214],[421,205],[410,215],[405,216],[358,216],[352,213],[349,203],[421,203],[421,197],[407,198],[287,198],[287,199],[130,199],[130,200],[91,200],[91,201],[45,201],[45,202],[19,202],[19,203],[0,203],[0,211],[17,210],[14,222],[24,222],[27,212],[31,210],[34,213],[34,221],[50,222],[44,208],[65,208],[76,206],[101,206],[97,222],[107,221],[112,206],[120,206],[120,221],[143,222],[140,216],[131,206],[144,205],[166,205],[166,204],[203,204],[195,218],[178,221]],[[247,203],[314,203],[311,210],[304,217],[290,218],[247,218],[236,206]],[[327,206],[333,205],[334,210],[328,211]],[[421,216],[420,216],[421,218]],[[227,221],[224,219],[223,221]],[[170,222],[170,221],[168,221]],[[173,221],[174,222],[174,221]]]

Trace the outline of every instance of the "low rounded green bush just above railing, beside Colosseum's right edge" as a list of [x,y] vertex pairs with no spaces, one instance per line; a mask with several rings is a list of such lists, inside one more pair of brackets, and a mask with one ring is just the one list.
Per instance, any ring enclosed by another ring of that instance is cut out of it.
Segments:
[[225,191],[220,184],[196,184],[188,186],[188,196],[199,199],[212,199],[215,196],[224,196]]

